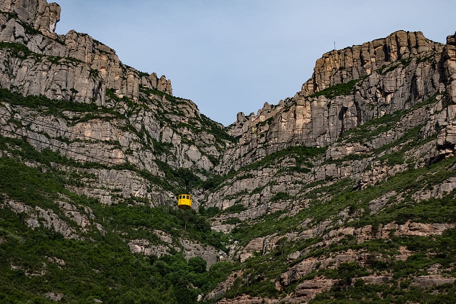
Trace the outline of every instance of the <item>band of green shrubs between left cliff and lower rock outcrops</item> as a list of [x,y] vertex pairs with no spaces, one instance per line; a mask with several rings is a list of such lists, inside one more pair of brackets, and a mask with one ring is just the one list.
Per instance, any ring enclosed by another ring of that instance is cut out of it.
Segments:
[[[40,155],[40,152],[36,153]],[[50,152],[45,153],[40,157],[52,156]],[[48,159],[48,162],[50,163],[51,159]],[[205,218],[192,210],[183,212],[173,208],[168,210],[165,207],[151,209],[141,205],[129,206],[129,200],[126,200],[125,204],[102,206],[95,200],[76,195],[66,189],[65,186],[74,184],[77,177],[58,170],[43,173],[40,168],[28,167],[11,158],[0,157],[0,193],[30,207],[50,209],[67,218],[55,203],[64,195],[73,203],[90,206],[99,217],[109,218],[103,226],[110,231],[124,231],[126,235],[131,234],[132,239],[147,238],[150,235],[149,228],[154,227],[176,237],[185,236],[225,250],[221,243],[221,235],[212,231]],[[184,233],[180,232],[183,230]]]

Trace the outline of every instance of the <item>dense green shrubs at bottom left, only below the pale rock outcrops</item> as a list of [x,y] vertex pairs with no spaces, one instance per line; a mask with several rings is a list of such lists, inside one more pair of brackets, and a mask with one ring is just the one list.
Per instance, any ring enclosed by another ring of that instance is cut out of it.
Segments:
[[196,295],[213,288],[232,267],[222,262],[205,271],[200,257],[187,262],[181,254],[159,259],[133,254],[113,232],[65,239],[49,229],[27,228],[20,215],[4,208],[0,237],[2,303],[53,303],[45,297],[48,291],[63,294],[62,303],[196,303]]

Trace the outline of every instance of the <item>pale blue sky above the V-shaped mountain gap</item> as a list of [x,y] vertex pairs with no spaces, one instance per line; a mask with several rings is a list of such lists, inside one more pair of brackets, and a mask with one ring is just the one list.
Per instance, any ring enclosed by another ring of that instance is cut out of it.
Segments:
[[[454,0],[55,0],[56,32],[87,33],[224,125],[295,95],[325,52],[421,31],[454,34]],[[48,0],[48,2],[51,2]]]

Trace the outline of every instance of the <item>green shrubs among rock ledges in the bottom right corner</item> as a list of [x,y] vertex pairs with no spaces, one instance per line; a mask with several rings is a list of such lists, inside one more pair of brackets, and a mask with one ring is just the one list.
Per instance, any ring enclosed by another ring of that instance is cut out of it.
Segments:
[[[373,271],[391,271],[392,279],[382,284],[365,284],[362,279],[356,277],[366,273],[366,268],[359,269],[353,263],[344,263],[344,269],[334,269],[335,273],[329,277],[342,278],[342,281],[352,281],[351,284],[339,284],[330,291],[317,295],[311,303],[407,303],[428,302],[428,303],[452,303],[456,300],[454,291],[456,283],[433,286],[431,288],[419,288],[410,285],[411,275],[426,275],[426,269],[438,263],[444,268],[451,267],[456,260],[454,250],[456,230],[451,229],[441,236],[434,237],[392,237],[389,242],[381,244],[383,248],[377,247],[372,252],[382,253],[382,256],[389,258],[384,260],[372,259],[370,267]],[[379,240],[380,241],[380,240]],[[380,241],[381,242],[381,241]],[[367,244],[363,244],[367,245]],[[406,260],[395,260],[391,258],[397,252],[399,246],[406,246],[416,253],[410,255]],[[356,269],[355,269],[356,266]],[[348,269],[347,269],[348,268]],[[342,271],[341,271],[342,270]],[[327,273],[328,271],[324,271]],[[323,274],[323,271],[321,272]],[[446,275],[454,276],[454,270],[446,272]],[[341,276],[342,275],[342,276]],[[343,277],[349,280],[343,279]]]

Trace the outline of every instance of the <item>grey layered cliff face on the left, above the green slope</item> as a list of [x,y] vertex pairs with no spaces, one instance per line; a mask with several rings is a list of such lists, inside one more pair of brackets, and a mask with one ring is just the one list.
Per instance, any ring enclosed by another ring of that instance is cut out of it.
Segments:
[[[129,164],[163,179],[163,164],[197,169],[205,178],[230,144],[214,137],[221,125],[200,115],[192,101],[172,96],[165,76],[125,66],[114,50],[87,34],[56,35],[57,4],[16,0],[2,2],[0,9],[0,87],[63,102],[59,113],[51,113],[7,98],[0,105],[2,135],[27,136],[36,149],[50,148],[78,162]],[[72,103],[98,107],[74,111]],[[133,197],[156,206],[175,199],[169,189],[129,170],[86,173],[95,178],[72,190],[104,204]]]

